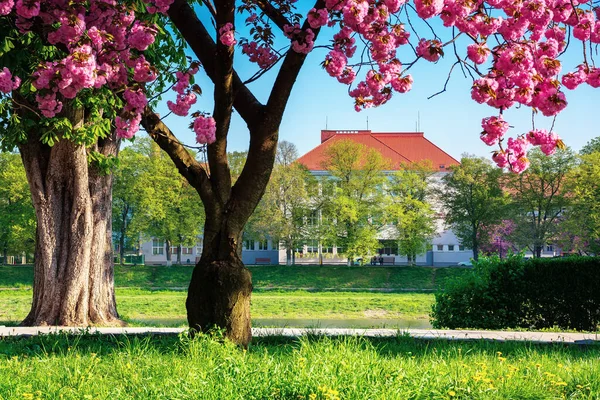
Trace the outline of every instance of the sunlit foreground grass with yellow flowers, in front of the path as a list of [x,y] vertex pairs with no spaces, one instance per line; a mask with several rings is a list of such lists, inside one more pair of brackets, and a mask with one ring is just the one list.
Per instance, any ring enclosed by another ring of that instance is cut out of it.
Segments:
[[596,399],[597,346],[323,338],[0,340],[0,399]]

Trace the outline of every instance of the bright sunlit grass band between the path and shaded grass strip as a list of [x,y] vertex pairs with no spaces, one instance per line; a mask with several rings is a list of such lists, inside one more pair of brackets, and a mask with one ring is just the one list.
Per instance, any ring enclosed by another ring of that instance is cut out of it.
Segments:
[[[0,324],[14,325],[31,306],[31,290],[0,291]],[[133,325],[180,326],[185,323],[185,291],[117,289],[121,316]],[[254,319],[428,320],[430,293],[257,292]]]

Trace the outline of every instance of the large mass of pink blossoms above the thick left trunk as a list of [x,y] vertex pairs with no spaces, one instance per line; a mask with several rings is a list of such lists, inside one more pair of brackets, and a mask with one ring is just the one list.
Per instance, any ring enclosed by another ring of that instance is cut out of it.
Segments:
[[[164,9],[171,2],[163,1],[158,8]],[[89,4],[0,1],[0,15],[13,12],[22,34],[36,29],[47,35],[50,44],[68,52],[62,59],[40,64],[33,73],[35,99],[42,115],[54,117],[65,101],[81,91],[107,86],[123,93],[124,106],[115,119],[117,134],[132,137],[139,129],[141,112],[147,103],[139,84],[156,79],[156,70],[142,54],[154,43],[156,27],[137,20],[124,4],[110,0],[91,0]],[[9,76],[10,72],[5,69],[4,75]],[[12,90],[17,86],[13,84]],[[6,93],[5,89],[8,85],[2,85]]]

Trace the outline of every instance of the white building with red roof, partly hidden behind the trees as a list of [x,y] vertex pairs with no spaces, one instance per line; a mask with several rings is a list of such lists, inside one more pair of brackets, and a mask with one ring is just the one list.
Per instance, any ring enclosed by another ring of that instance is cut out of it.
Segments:
[[[370,130],[358,131],[321,131],[321,144],[298,159],[312,174],[326,176],[328,172],[322,167],[325,161],[325,149],[340,140],[352,140],[373,148],[383,157],[389,159],[394,171],[402,164],[429,160],[437,172],[431,179],[433,186],[441,185],[441,178],[448,173],[448,168],[459,162],[427,140],[422,132],[391,132],[375,133]],[[435,208],[435,205],[434,205]],[[442,215],[442,213],[439,213]],[[384,235],[385,236],[385,235]],[[383,239],[383,236],[382,236]],[[405,256],[394,254],[394,249],[382,247],[379,254],[384,258],[385,265],[402,265],[407,263]],[[164,241],[153,239],[141,246],[146,264],[166,264],[166,248]],[[181,251],[182,264],[194,264],[202,252],[199,240],[194,247],[185,247]],[[451,230],[445,230],[444,221],[440,218],[437,224],[437,236],[433,238],[430,249],[417,257],[418,265],[452,265],[467,261],[473,256],[472,251],[460,245]],[[176,262],[177,248],[172,248],[172,262]],[[285,249],[270,240],[245,240],[242,250],[242,260],[245,264],[285,264]],[[346,258],[338,255],[337,248],[324,248],[316,240],[307,241],[306,245],[297,249],[296,264],[345,264]]]

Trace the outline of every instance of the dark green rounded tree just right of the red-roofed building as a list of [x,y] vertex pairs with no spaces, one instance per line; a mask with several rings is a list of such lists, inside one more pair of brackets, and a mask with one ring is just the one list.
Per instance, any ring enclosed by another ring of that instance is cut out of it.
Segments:
[[480,157],[463,156],[460,165],[443,178],[442,204],[446,223],[460,242],[479,259],[480,241],[485,226],[500,221],[506,197],[500,186],[502,170]]

